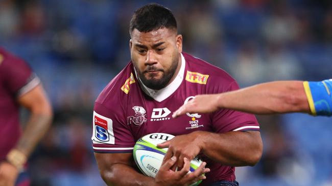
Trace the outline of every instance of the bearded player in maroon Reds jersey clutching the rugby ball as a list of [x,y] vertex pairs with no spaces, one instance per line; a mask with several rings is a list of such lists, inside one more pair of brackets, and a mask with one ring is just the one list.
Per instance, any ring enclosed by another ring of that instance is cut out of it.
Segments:
[[[189,185],[201,179],[202,186],[239,185],[235,167],[253,166],[262,156],[256,118],[228,109],[171,117],[194,95],[235,90],[236,81],[182,52],[176,19],[161,5],[137,9],[129,32],[131,61],[104,88],[93,109],[92,146],[102,178],[108,185]],[[135,170],[132,151],[139,138],[155,132],[175,137],[163,144],[170,147],[153,179]],[[186,174],[186,165],[199,153],[207,168],[203,163]]]

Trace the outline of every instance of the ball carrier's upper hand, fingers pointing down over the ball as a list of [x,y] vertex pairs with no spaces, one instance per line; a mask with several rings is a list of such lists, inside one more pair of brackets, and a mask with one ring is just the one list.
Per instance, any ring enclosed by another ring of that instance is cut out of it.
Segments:
[[202,141],[199,139],[199,133],[193,132],[186,135],[175,136],[169,141],[157,144],[159,148],[168,147],[168,151],[164,156],[163,162],[168,161],[173,156],[177,158],[177,163],[172,167],[181,169],[183,167],[183,159],[187,158],[192,161],[202,150]]

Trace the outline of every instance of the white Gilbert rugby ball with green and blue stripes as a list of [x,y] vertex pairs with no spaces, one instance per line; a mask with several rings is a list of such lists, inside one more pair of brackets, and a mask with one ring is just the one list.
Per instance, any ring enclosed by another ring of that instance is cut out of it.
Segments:
[[[164,155],[166,154],[168,148],[158,148],[157,144],[168,141],[174,138],[173,135],[165,133],[152,133],[141,137],[137,140],[133,156],[137,167],[145,175],[150,177],[156,177],[156,174],[161,166]],[[191,161],[191,166],[189,172],[195,171],[202,161],[195,158]],[[202,180],[197,181],[190,186],[195,186],[201,183]]]

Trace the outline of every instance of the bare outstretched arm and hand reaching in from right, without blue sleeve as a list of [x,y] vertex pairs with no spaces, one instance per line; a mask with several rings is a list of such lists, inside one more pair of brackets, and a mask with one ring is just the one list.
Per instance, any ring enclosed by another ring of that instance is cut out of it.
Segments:
[[175,111],[173,117],[223,108],[254,114],[312,113],[303,81],[274,81],[221,94],[198,95]]

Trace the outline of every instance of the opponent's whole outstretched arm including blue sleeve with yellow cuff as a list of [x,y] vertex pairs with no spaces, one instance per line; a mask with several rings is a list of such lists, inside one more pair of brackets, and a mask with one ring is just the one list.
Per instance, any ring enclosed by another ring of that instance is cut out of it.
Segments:
[[274,81],[215,95],[198,95],[173,113],[209,113],[233,109],[254,114],[305,112],[332,115],[332,79],[308,81]]

